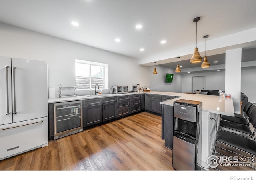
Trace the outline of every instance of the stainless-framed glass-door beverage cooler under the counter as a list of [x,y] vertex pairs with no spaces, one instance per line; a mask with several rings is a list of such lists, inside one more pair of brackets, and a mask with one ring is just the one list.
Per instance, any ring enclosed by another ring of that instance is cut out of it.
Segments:
[[82,100],[54,104],[54,139],[83,130]]

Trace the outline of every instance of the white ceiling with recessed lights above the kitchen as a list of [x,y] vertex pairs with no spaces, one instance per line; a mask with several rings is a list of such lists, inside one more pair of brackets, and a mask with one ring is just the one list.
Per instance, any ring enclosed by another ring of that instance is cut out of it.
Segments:
[[[256,0],[0,0],[0,22],[134,58],[256,27]],[[77,21],[79,26],[70,22]],[[135,28],[142,24],[142,29]],[[115,42],[120,38],[120,42]],[[166,40],[166,44],[160,44]],[[140,52],[144,48],[144,52]]]

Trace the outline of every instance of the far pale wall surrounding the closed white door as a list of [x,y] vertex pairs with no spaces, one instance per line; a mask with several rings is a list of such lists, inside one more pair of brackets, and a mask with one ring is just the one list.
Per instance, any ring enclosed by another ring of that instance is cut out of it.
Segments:
[[225,90],[225,71],[182,74],[182,92],[192,92],[192,77],[205,76],[206,90]]

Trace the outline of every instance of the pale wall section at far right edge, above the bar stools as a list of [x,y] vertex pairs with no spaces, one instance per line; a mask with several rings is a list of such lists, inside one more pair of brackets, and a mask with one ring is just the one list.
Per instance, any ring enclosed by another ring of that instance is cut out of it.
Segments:
[[248,97],[248,101],[256,103],[256,67],[242,69],[241,91]]

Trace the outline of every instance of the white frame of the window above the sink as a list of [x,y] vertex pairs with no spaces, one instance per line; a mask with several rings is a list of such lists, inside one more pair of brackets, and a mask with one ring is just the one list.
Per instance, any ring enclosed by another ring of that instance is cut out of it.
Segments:
[[[91,65],[93,66],[103,66],[103,89],[108,89],[108,64],[100,63],[100,62],[93,62],[93,61],[86,61],[86,60],[75,60],[76,63],[81,63],[81,64],[89,64],[90,65],[90,88],[89,89],[80,89],[80,90],[94,90],[95,88],[92,87],[92,82],[91,82]],[[76,75],[75,75],[76,78]]]

